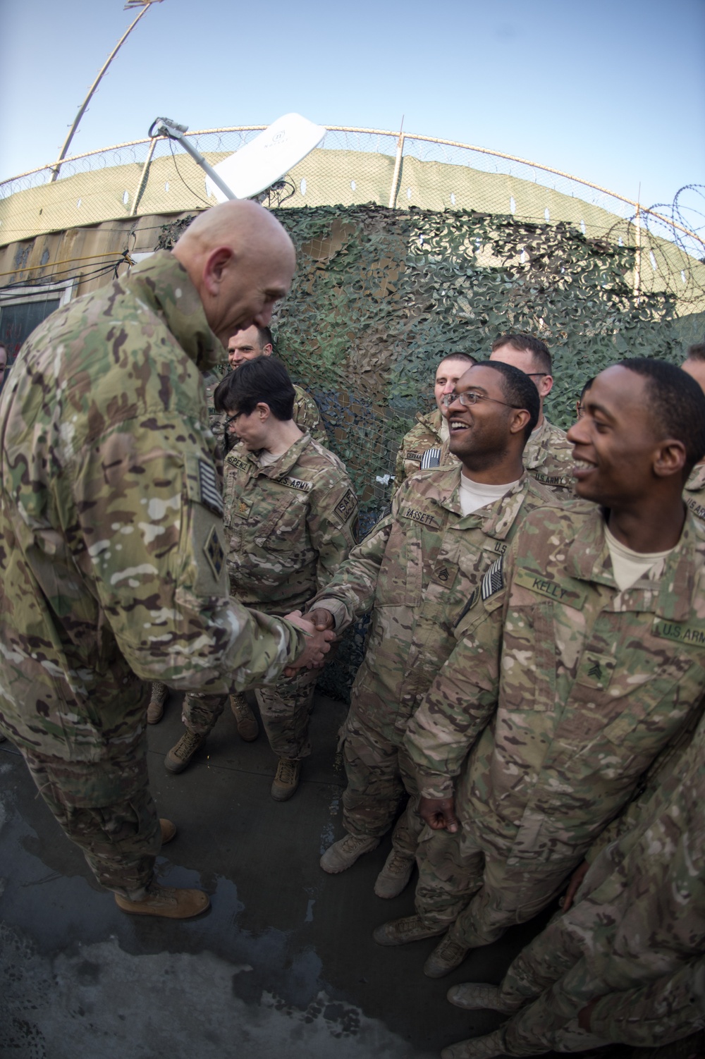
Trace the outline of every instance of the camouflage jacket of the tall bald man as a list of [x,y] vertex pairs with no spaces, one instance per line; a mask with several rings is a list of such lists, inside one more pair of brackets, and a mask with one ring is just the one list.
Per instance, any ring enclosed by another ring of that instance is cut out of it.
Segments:
[[224,693],[304,646],[229,597],[201,372],[224,356],[170,253],[58,309],[0,399],[0,728],[100,760],[143,681]]

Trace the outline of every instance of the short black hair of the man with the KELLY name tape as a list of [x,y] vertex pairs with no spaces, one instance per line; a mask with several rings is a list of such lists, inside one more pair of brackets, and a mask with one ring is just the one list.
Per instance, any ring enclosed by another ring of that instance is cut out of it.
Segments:
[[686,450],[684,473],[690,473],[705,455],[705,394],[687,372],[665,360],[633,357],[620,367],[646,379],[649,409],[665,437],[682,442]]

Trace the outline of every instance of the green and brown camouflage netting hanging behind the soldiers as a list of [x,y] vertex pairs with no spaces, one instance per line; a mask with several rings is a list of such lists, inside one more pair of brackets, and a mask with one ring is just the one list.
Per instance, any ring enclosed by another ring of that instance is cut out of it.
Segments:
[[[319,403],[363,528],[388,503],[399,441],[415,412],[433,407],[444,355],[483,358],[502,331],[538,335],[554,356],[546,414],[564,428],[583,382],[611,362],[682,358],[675,295],[635,298],[635,249],[578,227],[372,204],[274,212],[299,256],[273,322],[277,352]],[[166,226],[160,246],[183,223]],[[357,628],[322,689],[348,697],[363,641]]]

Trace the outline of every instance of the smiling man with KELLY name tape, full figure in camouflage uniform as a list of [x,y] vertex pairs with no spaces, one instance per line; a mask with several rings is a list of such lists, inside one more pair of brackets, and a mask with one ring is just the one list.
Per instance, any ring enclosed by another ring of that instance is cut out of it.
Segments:
[[568,437],[578,495],[608,521],[577,506],[525,520],[409,725],[435,829],[416,918],[452,923],[432,977],[549,903],[705,690],[705,538],[681,500],[703,393],[672,365],[625,361]]

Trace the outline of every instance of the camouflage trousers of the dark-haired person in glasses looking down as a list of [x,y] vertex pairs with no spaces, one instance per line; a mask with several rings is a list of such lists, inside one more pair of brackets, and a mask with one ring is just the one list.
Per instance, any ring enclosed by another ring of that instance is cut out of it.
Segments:
[[[255,692],[269,744],[278,757],[307,757],[311,753],[308,722],[313,708],[317,672],[303,669]],[[181,719],[191,732],[207,735],[228,703],[227,695],[184,696]]]

